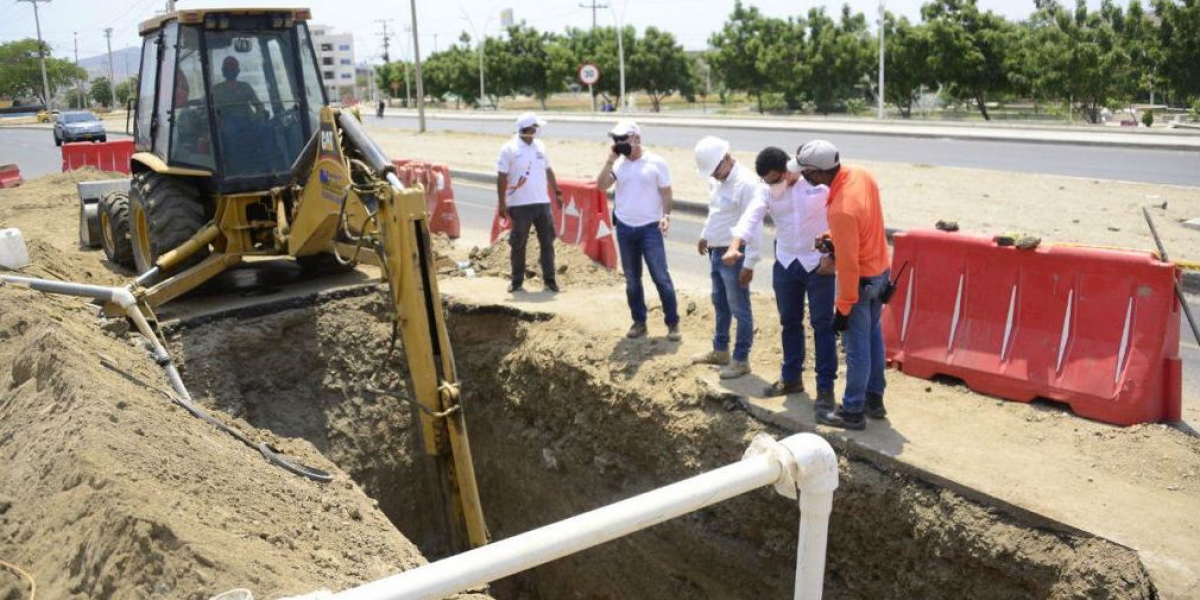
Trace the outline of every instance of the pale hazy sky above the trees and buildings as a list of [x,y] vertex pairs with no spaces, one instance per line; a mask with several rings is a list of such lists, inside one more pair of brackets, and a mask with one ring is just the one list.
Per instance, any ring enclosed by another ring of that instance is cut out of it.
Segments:
[[[926,0],[887,0],[887,10],[918,20],[920,5]],[[592,25],[592,10],[580,5],[598,2],[607,8],[596,11],[600,26],[612,25],[618,19],[626,25],[644,30],[656,26],[674,34],[685,49],[707,47],[708,37],[728,19],[733,0],[416,0],[418,30],[421,55],[436,49],[445,49],[455,43],[461,32],[473,32],[473,37],[486,31],[500,32],[500,11],[511,8],[514,20],[526,22],[542,31],[562,32],[568,26]],[[874,19],[878,0],[847,0],[851,8]],[[826,6],[827,12],[838,14],[841,0],[803,2],[797,0],[749,0],[766,14],[787,17],[803,14],[814,6]],[[1033,0],[978,0],[980,8],[990,10],[1010,20],[1020,20],[1033,12]],[[1069,2],[1064,2],[1069,4]],[[1099,0],[1087,0],[1090,7]],[[1126,0],[1117,0],[1124,5]],[[1144,4],[1146,4],[1144,1]],[[50,43],[53,54],[72,58],[78,38],[79,58],[90,58],[106,52],[104,29],[113,28],[113,49],[138,46],[138,23],[166,8],[164,0],[42,0],[38,14],[42,37]],[[412,56],[412,24],[408,0],[176,0],[176,8],[220,6],[295,6],[312,10],[311,23],[331,26],[335,32],[353,32],[355,61],[378,64],[383,54],[383,23],[388,22],[392,38],[392,60],[400,52]],[[29,1],[0,0],[0,42],[35,37],[34,8]],[[403,42],[401,46],[398,43]]]

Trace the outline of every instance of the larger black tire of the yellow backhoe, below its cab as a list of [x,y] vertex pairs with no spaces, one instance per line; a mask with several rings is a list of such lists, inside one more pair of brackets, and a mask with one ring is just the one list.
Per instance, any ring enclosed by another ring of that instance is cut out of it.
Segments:
[[[200,192],[187,181],[158,173],[139,173],[133,176],[130,190],[130,220],[133,263],[142,274],[150,270],[158,257],[199,232],[209,216]],[[172,272],[182,271],[208,254],[208,248],[200,250]]]

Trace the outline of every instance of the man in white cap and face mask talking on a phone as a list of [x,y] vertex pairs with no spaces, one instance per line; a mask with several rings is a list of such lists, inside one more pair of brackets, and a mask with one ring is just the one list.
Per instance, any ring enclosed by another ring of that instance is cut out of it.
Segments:
[[[620,266],[625,274],[625,300],[634,318],[626,337],[646,335],[646,293],[642,289],[642,262],[662,301],[667,340],[679,341],[679,311],[674,284],[667,271],[664,238],[671,228],[671,172],[661,156],[642,148],[642,130],[630,120],[617,121],[608,132],[612,151],[596,175],[596,186],[608,190],[617,184],[613,221]],[[619,163],[618,163],[619,160]]]

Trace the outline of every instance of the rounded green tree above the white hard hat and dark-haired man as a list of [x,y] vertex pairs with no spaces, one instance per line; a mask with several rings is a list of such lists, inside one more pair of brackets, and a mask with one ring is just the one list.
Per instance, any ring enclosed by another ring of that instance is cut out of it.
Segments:
[[782,30],[780,19],[764,17],[758,8],[746,7],[737,0],[725,26],[708,38],[714,48],[708,55],[713,74],[726,89],[754,96],[760,113],[763,112],[763,92],[778,90],[779,80],[791,74],[772,68],[786,53],[780,52],[775,46],[778,37],[773,37]]

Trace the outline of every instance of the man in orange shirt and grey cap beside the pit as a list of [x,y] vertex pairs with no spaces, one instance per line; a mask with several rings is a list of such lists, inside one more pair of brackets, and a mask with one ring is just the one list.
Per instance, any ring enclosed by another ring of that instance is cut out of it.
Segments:
[[841,164],[838,149],[823,139],[800,146],[788,169],[812,185],[829,186],[829,238],[836,256],[838,295],[834,331],[846,349],[846,391],[841,408],[817,407],[817,422],[865,430],[865,416],[883,419],[883,331],[880,294],[888,284],[888,240],[875,178],[858,167]]

